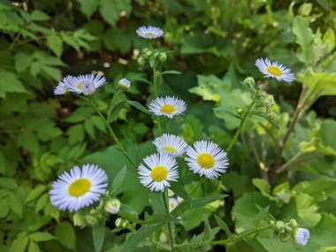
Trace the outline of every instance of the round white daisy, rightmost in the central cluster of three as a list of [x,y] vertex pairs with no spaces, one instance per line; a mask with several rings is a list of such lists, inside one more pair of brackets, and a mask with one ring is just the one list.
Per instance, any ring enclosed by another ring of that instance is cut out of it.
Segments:
[[218,178],[229,165],[225,151],[211,141],[196,141],[194,147],[187,148],[185,159],[190,170],[208,179]]

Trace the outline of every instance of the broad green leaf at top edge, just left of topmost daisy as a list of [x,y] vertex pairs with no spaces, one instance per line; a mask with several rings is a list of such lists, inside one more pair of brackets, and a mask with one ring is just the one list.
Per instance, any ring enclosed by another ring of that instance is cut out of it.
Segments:
[[131,0],[101,0],[99,11],[103,19],[112,27],[115,27],[120,18],[120,11],[126,11],[127,16],[132,11]]

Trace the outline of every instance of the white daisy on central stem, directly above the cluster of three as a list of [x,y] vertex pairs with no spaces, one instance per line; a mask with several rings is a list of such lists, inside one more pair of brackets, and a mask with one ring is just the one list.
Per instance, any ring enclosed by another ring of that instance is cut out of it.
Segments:
[[149,103],[149,111],[157,116],[173,118],[186,111],[187,105],[174,96],[157,97]]

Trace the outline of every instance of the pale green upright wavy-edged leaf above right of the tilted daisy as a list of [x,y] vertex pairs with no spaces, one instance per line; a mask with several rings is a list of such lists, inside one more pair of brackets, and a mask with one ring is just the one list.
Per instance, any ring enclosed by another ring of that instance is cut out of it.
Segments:
[[313,42],[315,35],[309,27],[309,20],[301,16],[296,16],[293,20],[293,33],[296,36],[295,42],[300,45],[297,52],[298,58],[309,65],[314,57]]

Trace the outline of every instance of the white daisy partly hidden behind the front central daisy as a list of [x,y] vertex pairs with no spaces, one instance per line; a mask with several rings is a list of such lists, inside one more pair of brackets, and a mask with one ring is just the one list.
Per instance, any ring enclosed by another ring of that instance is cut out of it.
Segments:
[[187,149],[187,142],[174,134],[163,134],[157,137],[153,143],[157,146],[157,152],[167,152],[172,157],[182,156]]

